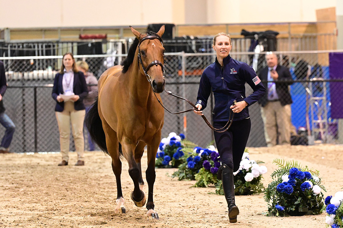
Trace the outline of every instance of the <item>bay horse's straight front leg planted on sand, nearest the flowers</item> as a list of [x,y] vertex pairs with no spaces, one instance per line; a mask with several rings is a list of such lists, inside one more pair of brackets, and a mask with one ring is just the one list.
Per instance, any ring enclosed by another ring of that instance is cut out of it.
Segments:
[[155,204],[153,200],[153,192],[154,192],[154,183],[156,179],[156,172],[155,172],[155,159],[156,153],[158,149],[159,142],[161,140],[161,131],[156,133],[152,139],[152,143],[147,145],[147,158],[148,158],[148,167],[145,171],[146,182],[148,183],[148,202],[146,203],[146,209],[148,212],[146,216],[148,219],[159,219],[157,212],[154,210]]

